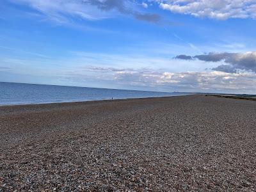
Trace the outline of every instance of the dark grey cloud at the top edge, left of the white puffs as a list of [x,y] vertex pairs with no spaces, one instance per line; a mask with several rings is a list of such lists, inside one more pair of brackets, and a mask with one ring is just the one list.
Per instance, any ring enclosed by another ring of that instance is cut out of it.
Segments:
[[125,15],[132,15],[135,19],[143,20],[147,22],[157,23],[161,20],[161,16],[152,13],[140,13],[138,11],[134,11],[127,3],[129,0],[88,0],[84,1],[84,3],[92,4],[97,6],[100,10],[109,11],[109,10],[117,10],[118,12]]

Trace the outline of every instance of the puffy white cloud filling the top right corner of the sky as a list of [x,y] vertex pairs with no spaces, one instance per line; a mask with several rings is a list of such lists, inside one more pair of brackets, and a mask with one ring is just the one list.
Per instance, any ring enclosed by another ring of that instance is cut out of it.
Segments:
[[212,19],[256,19],[255,0],[153,0],[163,10]]

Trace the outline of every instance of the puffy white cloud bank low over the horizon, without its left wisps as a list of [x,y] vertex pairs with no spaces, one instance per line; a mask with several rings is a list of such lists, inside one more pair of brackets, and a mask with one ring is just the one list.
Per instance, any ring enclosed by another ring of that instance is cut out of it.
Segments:
[[225,72],[116,72],[115,79],[123,83],[143,86],[169,87],[178,90],[234,92],[254,91],[256,74],[228,74]]

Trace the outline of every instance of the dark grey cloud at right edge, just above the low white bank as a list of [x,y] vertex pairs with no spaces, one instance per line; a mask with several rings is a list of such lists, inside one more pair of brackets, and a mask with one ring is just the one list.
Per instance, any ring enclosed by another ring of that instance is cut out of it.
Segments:
[[200,54],[196,56],[180,55],[175,58],[180,60],[201,60],[206,62],[219,62],[223,61],[228,65],[220,65],[212,70],[218,70],[222,72],[233,73],[237,70],[248,70],[256,72],[256,51],[244,52],[244,53],[232,53],[232,52],[209,52],[208,54]]

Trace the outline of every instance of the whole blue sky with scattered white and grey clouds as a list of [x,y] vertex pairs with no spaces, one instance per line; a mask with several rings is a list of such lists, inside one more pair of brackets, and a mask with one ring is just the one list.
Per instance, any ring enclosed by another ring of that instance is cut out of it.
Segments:
[[0,81],[256,94],[256,0],[1,0]]

